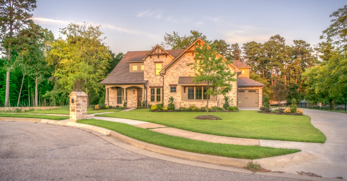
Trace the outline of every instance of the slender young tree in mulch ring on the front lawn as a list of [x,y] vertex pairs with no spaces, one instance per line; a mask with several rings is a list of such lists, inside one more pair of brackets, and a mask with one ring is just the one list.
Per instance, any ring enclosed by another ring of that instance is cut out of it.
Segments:
[[206,83],[207,97],[207,115],[209,115],[209,98],[210,96],[225,95],[226,91],[231,91],[232,81],[235,72],[231,72],[228,64],[232,63],[217,54],[215,45],[206,44],[195,45],[195,62],[188,63],[187,66],[193,66],[195,77],[193,81],[197,84]]

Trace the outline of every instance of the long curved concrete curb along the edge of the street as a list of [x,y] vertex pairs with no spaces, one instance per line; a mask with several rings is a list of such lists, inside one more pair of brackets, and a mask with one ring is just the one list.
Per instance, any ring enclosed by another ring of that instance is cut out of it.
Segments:
[[[86,128],[91,129],[94,131],[101,132],[105,135],[111,135],[113,138],[119,139],[121,141],[124,141],[125,143],[128,143],[132,146],[135,146],[140,149],[148,150],[151,152],[183,158],[185,160],[191,160],[191,161],[198,161],[198,162],[204,162],[204,163],[211,163],[211,164],[217,164],[217,165],[225,165],[225,166],[235,166],[235,167],[246,167],[247,163],[253,162],[253,163],[259,163],[263,168],[269,168],[273,166],[280,166],[285,165],[289,163],[296,163],[296,162],[302,162],[306,160],[311,160],[315,158],[314,155],[311,155],[306,152],[297,152],[292,153],[288,155],[281,155],[281,156],[274,156],[274,157],[268,157],[268,158],[260,158],[255,160],[250,159],[241,159],[241,158],[230,158],[230,157],[223,157],[223,156],[215,156],[215,155],[206,155],[206,154],[200,154],[200,153],[193,153],[193,152],[186,152],[182,150],[167,148],[163,146],[153,145],[150,143],[146,143],[143,141],[139,141],[134,138],[127,137],[125,135],[122,135],[116,131],[112,131],[109,129],[89,125],[89,124],[82,124],[82,123],[76,123],[76,122],[68,122],[68,121],[57,121],[57,120],[48,120],[48,119],[37,119],[37,118],[12,118],[10,117],[10,121],[26,121],[26,122],[42,122],[42,123],[52,123],[52,124],[63,124],[68,126],[75,126],[80,128]],[[0,117],[0,121],[6,120],[8,121],[8,117]]]

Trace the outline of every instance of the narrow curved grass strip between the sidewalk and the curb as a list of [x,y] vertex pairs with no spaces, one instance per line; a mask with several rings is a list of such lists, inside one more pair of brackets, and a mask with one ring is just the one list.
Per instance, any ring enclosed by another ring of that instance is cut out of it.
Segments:
[[134,127],[129,124],[103,121],[96,119],[78,120],[78,123],[91,124],[103,127],[122,135],[151,143],[154,145],[164,146],[173,149],[184,150],[187,152],[202,153],[209,155],[225,156],[232,158],[257,159],[272,156],[286,155],[299,152],[298,149],[271,148],[262,146],[244,146],[231,145],[221,143],[209,143],[205,141],[197,141],[188,138],[165,135],[163,133]]

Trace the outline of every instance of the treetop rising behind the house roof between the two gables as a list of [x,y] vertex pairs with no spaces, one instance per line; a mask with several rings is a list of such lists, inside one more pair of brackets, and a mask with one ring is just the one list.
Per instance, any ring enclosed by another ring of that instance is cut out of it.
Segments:
[[164,41],[161,42],[161,46],[166,49],[186,49],[189,45],[191,45],[197,38],[200,38],[205,43],[210,44],[211,41],[207,40],[206,36],[202,33],[191,30],[191,35],[179,36],[177,32],[174,32],[172,35],[165,33]]

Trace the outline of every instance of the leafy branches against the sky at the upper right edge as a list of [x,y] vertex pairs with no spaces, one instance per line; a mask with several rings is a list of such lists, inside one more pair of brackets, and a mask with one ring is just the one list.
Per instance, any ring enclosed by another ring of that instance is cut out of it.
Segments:
[[347,5],[334,11],[329,17],[333,17],[332,24],[323,31],[321,39],[326,38],[342,50],[347,50]]

